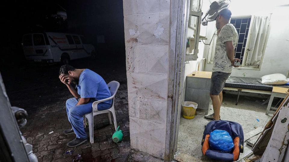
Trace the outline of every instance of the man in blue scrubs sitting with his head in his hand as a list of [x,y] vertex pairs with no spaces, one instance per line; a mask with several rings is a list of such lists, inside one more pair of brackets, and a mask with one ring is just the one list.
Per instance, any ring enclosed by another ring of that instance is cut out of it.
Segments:
[[[109,88],[104,79],[89,69],[76,69],[70,65],[63,65],[59,70],[59,79],[63,82],[75,98],[66,101],[68,121],[71,129],[63,131],[64,134],[76,134],[76,138],[67,143],[69,147],[79,146],[87,141],[84,131],[83,116],[92,112],[94,101],[109,98]],[[71,84],[75,84],[74,88]],[[106,110],[111,106],[111,100],[98,104],[98,110]]]

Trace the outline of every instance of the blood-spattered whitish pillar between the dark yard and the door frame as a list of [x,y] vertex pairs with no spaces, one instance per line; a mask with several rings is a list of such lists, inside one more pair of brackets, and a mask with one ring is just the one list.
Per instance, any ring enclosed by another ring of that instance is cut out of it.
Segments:
[[123,0],[131,148],[164,158],[170,0]]

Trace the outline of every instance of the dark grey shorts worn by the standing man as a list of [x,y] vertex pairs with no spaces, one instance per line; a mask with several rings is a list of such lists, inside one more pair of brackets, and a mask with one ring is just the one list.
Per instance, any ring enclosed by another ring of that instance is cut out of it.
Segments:
[[231,73],[223,73],[216,71],[212,73],[211,76],[211,88],[210,95],[219,95],[225,86],[225,82]]

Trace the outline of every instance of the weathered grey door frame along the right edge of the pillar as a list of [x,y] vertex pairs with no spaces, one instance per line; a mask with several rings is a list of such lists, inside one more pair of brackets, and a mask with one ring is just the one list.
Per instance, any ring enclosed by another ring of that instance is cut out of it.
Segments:
[[[165,161],[172,161],[177,148],[182,90],[185,75],[186,35],[190,0],[170,1],[169,70]],[[187,6],[187,7],[185,7]]]

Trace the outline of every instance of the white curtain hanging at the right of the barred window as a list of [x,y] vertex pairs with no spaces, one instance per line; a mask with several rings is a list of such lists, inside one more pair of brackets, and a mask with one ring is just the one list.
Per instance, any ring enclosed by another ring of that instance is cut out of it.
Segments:
[[269,25],[268,16],[252,16],[251,38],[248,46],[246,65],[259,66],[265,45],[266,33]]

